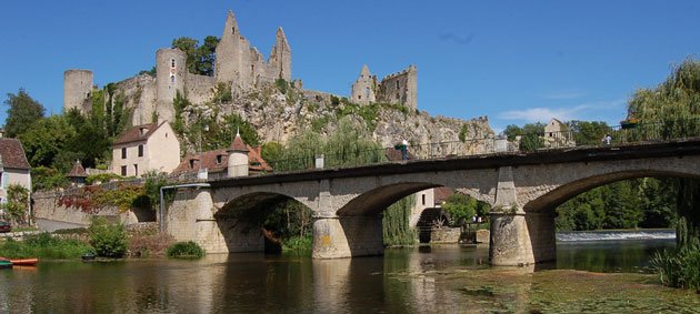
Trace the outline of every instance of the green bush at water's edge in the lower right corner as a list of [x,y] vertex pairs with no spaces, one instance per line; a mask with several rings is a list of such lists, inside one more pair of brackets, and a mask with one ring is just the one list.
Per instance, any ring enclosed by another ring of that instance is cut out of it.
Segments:
[[677,251],[654,253],[651,266],[661,283],[672,287],[694,290],[700,293],[700,246],[681,246]]

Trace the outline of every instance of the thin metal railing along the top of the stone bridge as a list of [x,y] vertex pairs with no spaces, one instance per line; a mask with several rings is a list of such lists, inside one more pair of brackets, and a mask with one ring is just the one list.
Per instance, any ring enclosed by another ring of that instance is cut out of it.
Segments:
[[[628,123],[606,129],[567,130],[560,132],[529,133],[509,141],[500,136],[468,139],[436,143],[410,143],[408,162],[416,160],[440,160],[469,155],[486,155],[507,152],[542,151],[576,146],[627,145],[650,141],[667,141],[700,136],[700,118],[687,120],[659,121],[649,123]],[[320,151],[307,151],[294,159],[268,161],[271,173],[303,172],[316,169],[353,168],[382,163],[403,162],[401,151],[391,148],[362,150],[340,150],[333,154],[320,154]],[[221,180],[209,178],[210,180]],[[181,178],[182,179],[182,178]]]

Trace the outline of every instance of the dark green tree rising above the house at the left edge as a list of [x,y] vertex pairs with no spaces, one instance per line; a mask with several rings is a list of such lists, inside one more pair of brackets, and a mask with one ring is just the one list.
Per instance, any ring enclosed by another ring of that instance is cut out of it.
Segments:
[[8,138],[17,138],[43,119],[43,105],[33,100],[24,89],[20,89],[17,94],[8,93],[4,104],[9,107],[4,122],[4,133]]

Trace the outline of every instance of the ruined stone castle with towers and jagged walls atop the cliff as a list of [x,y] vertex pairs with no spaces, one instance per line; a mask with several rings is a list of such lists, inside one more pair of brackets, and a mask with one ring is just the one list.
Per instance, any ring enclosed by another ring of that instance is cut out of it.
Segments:
[[[282,79],[291,82],[291,48],[282,28],[278,28],[276,43],[268,60],[250,45],[241,34],[233,12],[229,11],[221,39],[216,48],[213,77],[190,73],[187,54],[179,49],[163,48],[156,52],[156,77],[137,75],[114,83],[122,95],[123,108],[132,110],[131,124],[138,125],[158,120],[173,121],[173,99],[178,93],[192,103],[211,101],[220,84],[239,94],[259,89],[262,84]],[[301,87],[301,82],[296,83]],[[91,108],[92,72],[68,70],[64,73],[63,109],[79,109],[88,113]],[[359,104],[372,102],[400,103],[417,108],[417,69],[386,77],[381,82],[362,68],[360,78],[352,85],[350,101]],[[110,104],[108,104],[110,105]],[[111,104],[113,105],[113,103]]]

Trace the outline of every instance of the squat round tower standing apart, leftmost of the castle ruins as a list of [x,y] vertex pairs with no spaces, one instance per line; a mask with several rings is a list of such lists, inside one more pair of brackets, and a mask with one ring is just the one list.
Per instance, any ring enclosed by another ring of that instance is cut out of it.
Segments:
[[92,110],[92,71],[68,70],[63,72],[63,111],[77,108],[82,113]]

